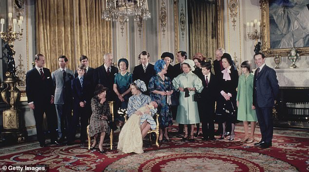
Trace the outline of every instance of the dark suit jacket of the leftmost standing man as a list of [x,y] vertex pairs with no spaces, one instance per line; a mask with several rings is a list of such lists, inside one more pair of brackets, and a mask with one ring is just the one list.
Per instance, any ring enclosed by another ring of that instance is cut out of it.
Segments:
[[51,96],[55,95],[55,88],[53,84],[50,70],[43,68],[45,78],[42,80],[36,68],[31,69],[26,74],[26,94],[28,103],[46,103],[50,102]]

